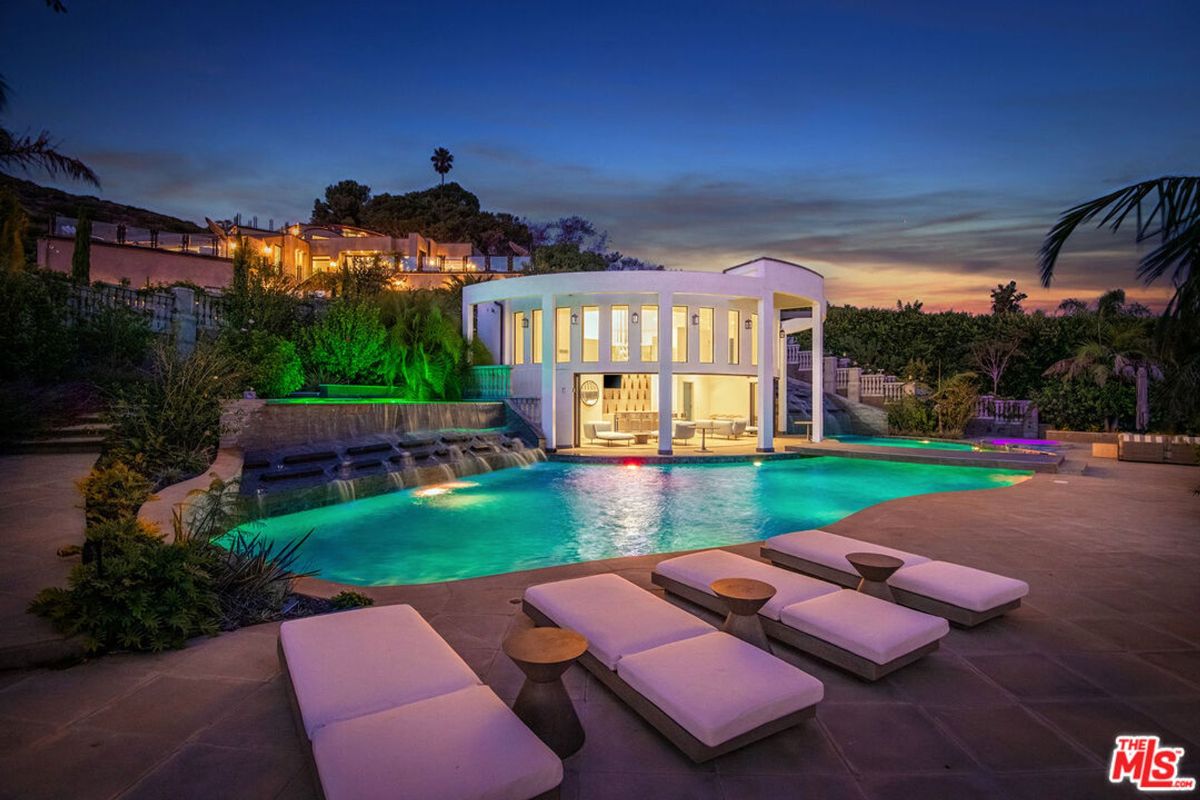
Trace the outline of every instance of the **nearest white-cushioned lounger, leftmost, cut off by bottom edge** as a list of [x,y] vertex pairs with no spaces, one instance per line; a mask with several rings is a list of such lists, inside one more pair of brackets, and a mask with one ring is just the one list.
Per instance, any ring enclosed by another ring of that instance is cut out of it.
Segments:
[[412,606],[289,620],[278,651],[326,800],[559,796],[558,756]]

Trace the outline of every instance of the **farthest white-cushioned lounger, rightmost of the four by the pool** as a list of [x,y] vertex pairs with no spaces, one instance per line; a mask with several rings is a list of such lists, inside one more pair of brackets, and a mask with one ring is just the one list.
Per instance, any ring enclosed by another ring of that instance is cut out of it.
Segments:
[[888,578],[896,602],[971,627],[1021,604],[1030,584],[949,561],[931,561],[882,545],[839,536],[823,530],[802,530],[773,536],[762,557],[797,572],[856,587],[862,576],[846,560],[850,553],[881,553],[904,561]]

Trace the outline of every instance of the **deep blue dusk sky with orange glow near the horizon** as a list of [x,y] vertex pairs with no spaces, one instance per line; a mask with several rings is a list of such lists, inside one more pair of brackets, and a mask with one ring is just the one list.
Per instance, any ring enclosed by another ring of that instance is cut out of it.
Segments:
[[66,5],[0,10],[2,124],[197,221],[424,188],[445,146],[484,207],[578,213],[672,267],[776,255],[857,305],[983,309],[1009,279],[1160,305],[1128,240],[1073,242],[1049,290],[1037,248],[1075,203],[1200,170],[1196,0]]

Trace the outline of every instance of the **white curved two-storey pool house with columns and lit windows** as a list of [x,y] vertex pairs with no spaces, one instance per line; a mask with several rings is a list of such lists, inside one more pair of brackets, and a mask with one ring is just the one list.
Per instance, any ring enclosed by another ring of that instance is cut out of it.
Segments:
[[[466,336],[508,367],[499,393],[524,398],[551,451],[656,441],[672,455],[719,437],[773,452],[786,428],[790,333],[812,331],[811,380],[822,385],[824,278],[779,259],[526,276],[469,285],[462,302]],[[822,410],[814,392],[815,441]]]

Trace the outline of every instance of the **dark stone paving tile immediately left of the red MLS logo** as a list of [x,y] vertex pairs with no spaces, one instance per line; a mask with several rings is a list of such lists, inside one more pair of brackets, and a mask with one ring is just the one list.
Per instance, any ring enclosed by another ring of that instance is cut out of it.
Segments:
[[934,709],[934,716],[991,770],[1087,766],[1088,758],[1025,709]]

